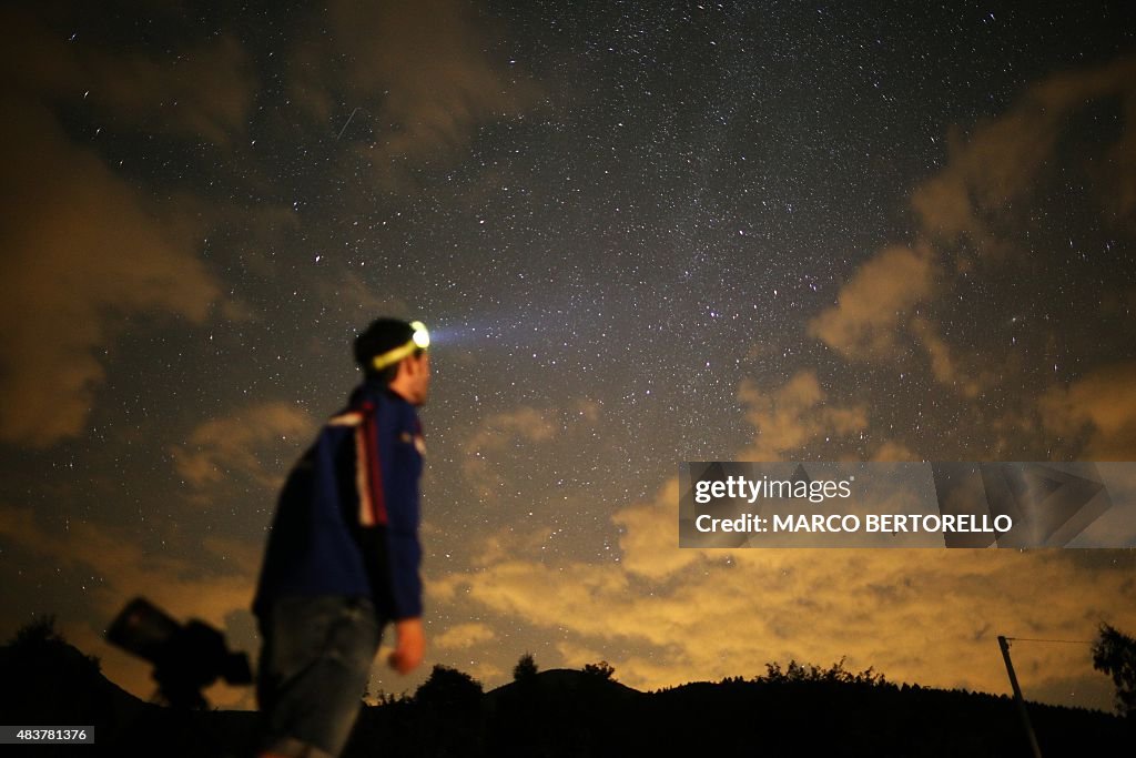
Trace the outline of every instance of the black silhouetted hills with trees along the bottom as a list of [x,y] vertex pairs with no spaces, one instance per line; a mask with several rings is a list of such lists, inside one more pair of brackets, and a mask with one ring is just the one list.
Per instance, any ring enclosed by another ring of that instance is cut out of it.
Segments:
[[[1005,695],[896,686],[840,664],[796,670],[805,675],[770,666],[769,676],[640,692],[610,670],[552,669],[483,693],[437,666],[414,697],[364,707],[344,755],[1029,756]],[[1038,703],[1029,711],[1046,758],[1133,755],[1130,719]],[[0,713],[8,724],[94,725],[95,747],[34,749],[44,757],[248,756],[257,730],[253,713],[142,702],[50,631],[0,648]]]

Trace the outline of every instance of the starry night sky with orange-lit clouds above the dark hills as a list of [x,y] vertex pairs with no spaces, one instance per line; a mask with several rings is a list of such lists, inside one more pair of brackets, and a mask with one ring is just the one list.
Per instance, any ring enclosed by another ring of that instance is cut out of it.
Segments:
[[394,315],[428,664],[1005,692],[1004,634],[1070,641],[1016,644],[1028,698],[1110,707],[1136,534],[680,550],[677,470],[1136,459],[1126,3],[317,6],[0,10],[0,636],[55,614],[143,697],[135,594],[254,651],[276,491]]

